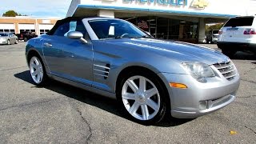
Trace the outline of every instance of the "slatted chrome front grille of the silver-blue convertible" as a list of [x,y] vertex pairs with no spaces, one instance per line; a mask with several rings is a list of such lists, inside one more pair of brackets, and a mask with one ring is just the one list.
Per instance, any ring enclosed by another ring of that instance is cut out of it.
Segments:
[[222,75],[229,81],[236,76],[236,70],[232,62],[216,63],[214,66],[222,73]]

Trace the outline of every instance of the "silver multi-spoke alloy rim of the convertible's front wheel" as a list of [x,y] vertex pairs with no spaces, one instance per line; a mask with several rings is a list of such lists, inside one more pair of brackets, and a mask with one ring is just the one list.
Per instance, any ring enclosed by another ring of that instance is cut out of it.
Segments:
[[148,78],[133,76],[122,86],[122,102],[134,118],[146,121],[158,114],[160,94]]

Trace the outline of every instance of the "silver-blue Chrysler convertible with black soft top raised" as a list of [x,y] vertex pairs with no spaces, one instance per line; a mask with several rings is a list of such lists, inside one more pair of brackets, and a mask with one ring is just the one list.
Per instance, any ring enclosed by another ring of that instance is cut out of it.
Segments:
[[234,101],[238,70],[203,46],[152,38],[117,18],[65,18],[30,39],[26,60],[36,85],[48,78],[116,98],[140,123],[197,118]]

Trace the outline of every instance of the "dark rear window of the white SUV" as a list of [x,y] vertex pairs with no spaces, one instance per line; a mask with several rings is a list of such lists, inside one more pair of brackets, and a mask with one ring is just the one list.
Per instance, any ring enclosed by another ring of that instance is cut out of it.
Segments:
[[230,18],[230,20],[226,22],[224,27],[251,26],[253,22],[254,22],[254,17]]

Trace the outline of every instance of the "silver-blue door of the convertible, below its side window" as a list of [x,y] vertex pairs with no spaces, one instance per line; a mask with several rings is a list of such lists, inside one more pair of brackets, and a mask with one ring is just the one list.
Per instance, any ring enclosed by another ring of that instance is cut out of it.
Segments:
[[62,76],[91,86],[93,81],[91,44],[83,44],[79,40],[66,38],[62,46]]

